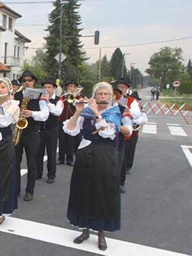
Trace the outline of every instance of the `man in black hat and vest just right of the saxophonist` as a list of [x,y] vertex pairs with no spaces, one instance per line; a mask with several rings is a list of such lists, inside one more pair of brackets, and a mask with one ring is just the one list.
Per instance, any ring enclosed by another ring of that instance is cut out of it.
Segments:
[[56,151],[58,144],[58,116],[63,111],[63,101],[56,96],[54,89],[56,84],[54,79],[47,79],[42,83],[47,91],[49,118],[42,122],[40,126],[40,147],[37,157],[37,177],[36,180],[42,178],[44,171],[44,154],[45,147],[47,149],[47,183],[53,183],[56,177]]

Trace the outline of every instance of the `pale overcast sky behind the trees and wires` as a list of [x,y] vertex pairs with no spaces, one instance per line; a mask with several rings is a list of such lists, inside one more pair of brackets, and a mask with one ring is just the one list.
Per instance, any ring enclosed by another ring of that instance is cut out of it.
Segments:
[[[90,35],[95,30],[100,30],[99,47],[124,46],[192,36],[192,0],[84,0],[81,3],[83,35]],[[20,23],[48,24],[47,15],[52,10],[52,4],[7,5],[23,16],[17,20],[17,28],[32,40],[28,46],[42,46],[46,26],[24,26]],[[86,38],[83,42],[84,47],[97,47],[94,46],[92,38]],[[121,47],[121,49],[125,53],[130,53],[125,58],[127,67],[130,67],[132,62],[144,72],[150,56],[163,46],[182,47],[186,63],[192,58],[192,38],[150,46]],[[115,48],[102,49],[102,56],[106,54],[111,58],[114,50]],[[99,58],[99,49],[86,51],[90,56],[90,62]],[[34,53],[35,50],[29,49],[28,58]]]

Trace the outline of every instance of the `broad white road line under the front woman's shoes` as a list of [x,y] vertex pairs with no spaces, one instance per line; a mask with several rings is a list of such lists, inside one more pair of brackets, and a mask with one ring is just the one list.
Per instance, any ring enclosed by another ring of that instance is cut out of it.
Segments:
[[0,232],[20,235],[22,237],[28,237],[51,244],[59,244],[61,246],[67,246],[77,250],[97,253],[99,255],[187,256],[181,253],[160,250],[157,248],[143,246],[140,244],[133,244],[111,238],[106,239],[108,243],[108,249],[106,251],[100,251],[97,248],[97,235],[90,235],[90,239],[84,241],[83,244],[75,244],[73,243],[73,240],[80,234],[75,230],[68,230],[58,226],[45,225],[42,223],[36,223],[33,221],[26,221],[24,219],[17,219],[12,217],[6,217],[6,221],[4,221],[4,223],[0,226]]

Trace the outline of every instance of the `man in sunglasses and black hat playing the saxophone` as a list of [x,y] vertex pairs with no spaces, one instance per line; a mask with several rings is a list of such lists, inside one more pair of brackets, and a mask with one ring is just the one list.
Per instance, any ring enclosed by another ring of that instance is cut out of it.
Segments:
[[[23,93],[26,87],[33,89],[36,76],[30,71],[24,71],[19,81],[22,83],[23,89],[15,94],[15,99],[20,101],[22,105]],[[47,102],[40,99],[30,99],[27,109],[22,111],[23,117],[28,120],[28,126],[22,131],[20,142],[15,146],[16,160],[17,160],[17,176],[18,176],[18,192],[20,194],[20,163],[22,161],[23,149],[26,151],[27,165],[28,165],[28,182],[26,186],[25,201],[33,199],[33,193],[36,181],[36,153],[40,144],[39,130],[40,121],[46,121],[49,117],[49,108]]]

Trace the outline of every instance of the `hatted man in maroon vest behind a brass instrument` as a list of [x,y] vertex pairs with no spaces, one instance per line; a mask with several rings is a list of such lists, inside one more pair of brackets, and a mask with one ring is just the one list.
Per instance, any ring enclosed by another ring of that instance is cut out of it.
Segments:
[[[75,81],[68,81],[65,84],[65,89],[67,92],[74,93],[78,88],[78,83]],[[65,96],[62,97],[63,99],[63,112],[61,113],[59,120],[59,158],[57,164],[64,164],[65,157],[68,166],[73,166],[74,162],[74,138],[67,133],[63,133],[63,121],[70,119],[72,115],[76,112],[76,107],[74,107],[73,103],[68,103],[65,99]]]

